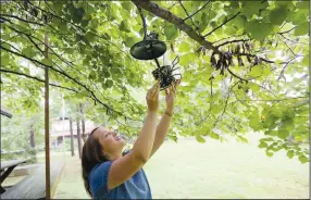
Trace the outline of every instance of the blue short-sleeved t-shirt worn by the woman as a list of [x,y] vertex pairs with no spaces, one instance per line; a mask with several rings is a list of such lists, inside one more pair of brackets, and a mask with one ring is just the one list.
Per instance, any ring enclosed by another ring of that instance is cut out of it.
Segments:
[[142,168],[120,186],[108,189],[108,173],[113,161],[97,164],[90,172],[89,185],[94,199],[152,199]]

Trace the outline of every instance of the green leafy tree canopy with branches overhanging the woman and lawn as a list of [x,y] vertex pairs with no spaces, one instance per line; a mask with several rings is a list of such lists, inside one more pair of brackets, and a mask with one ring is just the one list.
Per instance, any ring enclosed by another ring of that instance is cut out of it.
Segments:
[[[165,63],[176,55],[183,85],[170,133],[247,142],[264,133],[269,157],[285,149],[308,162],[308,1],[12,1],[1,2],[2,96],[36,112],[43,68],[50,85],[72,104],[88,103],[88,118],[109,117],[128,135],[137,133],[152,82],[152,61],[137,61],[129,48],[148,32],[160,34]],[[45,35],[49,58],[45,58]],[[17,88],[17,89],[16,89]],[[289,142],[289,138],[290,141]]]

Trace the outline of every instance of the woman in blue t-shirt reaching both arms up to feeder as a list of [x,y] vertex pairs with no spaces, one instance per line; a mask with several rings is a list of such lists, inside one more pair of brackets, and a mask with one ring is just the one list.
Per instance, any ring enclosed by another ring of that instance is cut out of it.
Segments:
[[94,199],[151,199],[142,166],[163,143],[170,128],[177,82],[165,89],[166,110],[157,126],[159,83],[147,92],[147,118],[133,149],[123,152],[124,140],[103,127],[94,129],[83,147],[82,167],[87,192]]

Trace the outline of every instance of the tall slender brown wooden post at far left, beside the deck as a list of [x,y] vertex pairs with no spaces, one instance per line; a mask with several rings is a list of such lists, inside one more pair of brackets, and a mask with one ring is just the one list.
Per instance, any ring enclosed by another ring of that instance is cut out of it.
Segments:
[[[47,34],[45,35],[45,54],[46,59],[49,58],[49,40]],[[50,112],[49,112],[49,68],[45,68],[45,143],[46,143],[46,199],[51,199],[51,187],[50,187]]]

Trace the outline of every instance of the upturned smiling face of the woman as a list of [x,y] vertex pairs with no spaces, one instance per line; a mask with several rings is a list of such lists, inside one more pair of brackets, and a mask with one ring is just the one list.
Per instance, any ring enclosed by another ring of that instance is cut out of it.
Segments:
[[99,127],[94,134],[95,137],[98,138],[101,147],[103,147],[104,153],[122,153],[125,141],[121,136],[117,135],[117,133],[108,130],[104,127]]

